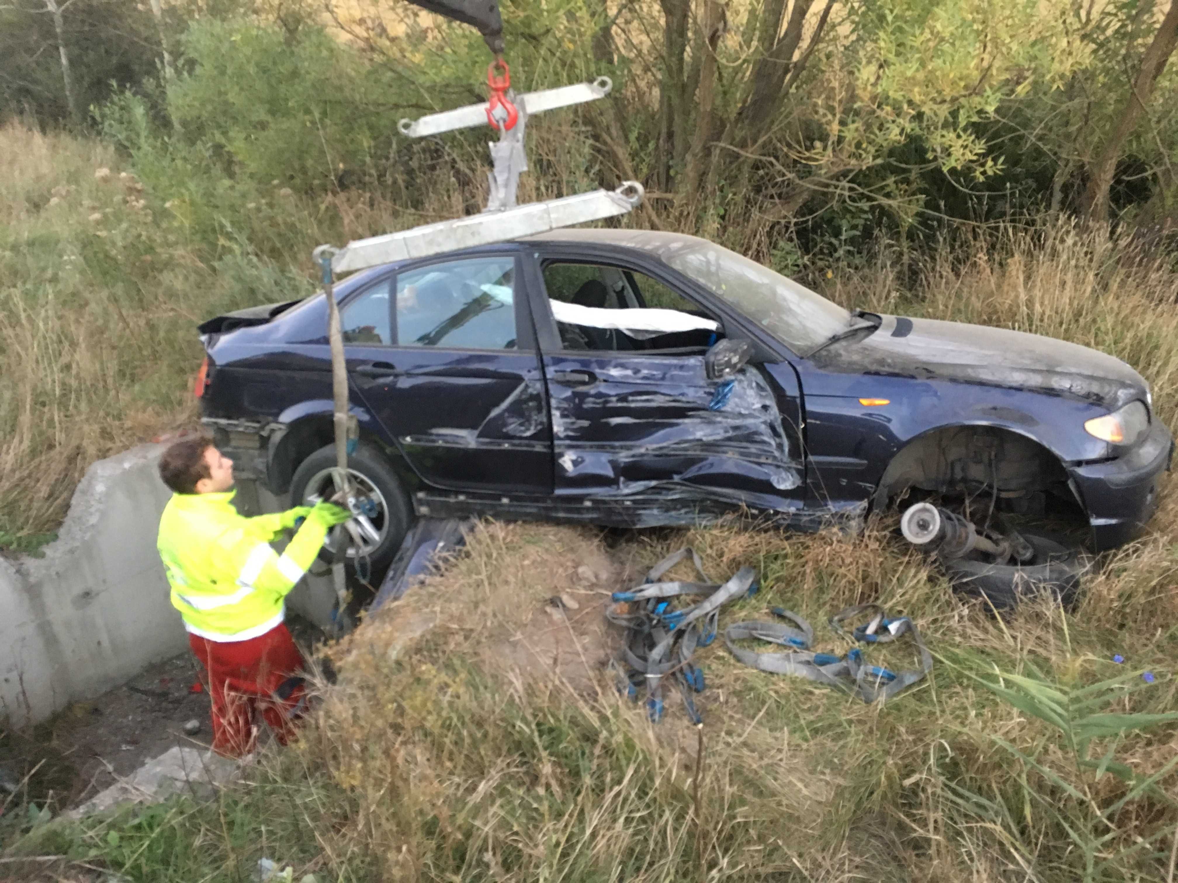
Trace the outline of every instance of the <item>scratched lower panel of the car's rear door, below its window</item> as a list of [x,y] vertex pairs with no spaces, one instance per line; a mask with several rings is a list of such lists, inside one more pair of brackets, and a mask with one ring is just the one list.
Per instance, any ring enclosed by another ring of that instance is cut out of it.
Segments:
[[348,347],[355,389],[437,487],[547,494],[551,434],[535,352]]

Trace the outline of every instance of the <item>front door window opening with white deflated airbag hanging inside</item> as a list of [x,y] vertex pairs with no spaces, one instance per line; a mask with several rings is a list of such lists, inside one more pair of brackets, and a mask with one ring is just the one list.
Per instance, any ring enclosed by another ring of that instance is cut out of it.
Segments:
[[723,336],[693,300],[635,270],[552,261],[544,287],[565,350],[657,352],[707,347]]

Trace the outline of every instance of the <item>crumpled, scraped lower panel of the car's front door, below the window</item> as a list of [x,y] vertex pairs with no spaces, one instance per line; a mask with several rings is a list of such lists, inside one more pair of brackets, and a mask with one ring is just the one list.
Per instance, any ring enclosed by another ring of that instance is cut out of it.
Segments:
[[557,496],[800,502],[799,451],[755,369],[717,383],[702,354],[670,353],[561,354],[544,367]]

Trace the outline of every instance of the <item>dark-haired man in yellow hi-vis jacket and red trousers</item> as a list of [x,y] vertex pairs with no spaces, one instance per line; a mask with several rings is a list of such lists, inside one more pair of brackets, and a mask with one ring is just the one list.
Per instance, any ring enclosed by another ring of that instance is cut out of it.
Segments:
[[[159,556],[184,617],[188,644],[212,698],[213,750],[240,757],[257,741],[260,713],[282,744],[303,701],[303,657],[283,623],[287,592],[315,560],[346,509],[319,503],[245,518],[233,509],[233,462],[204,437],[185,438],[159,460],[174,491],[159,520]],[[302,527],[282,555],[270,543]]]

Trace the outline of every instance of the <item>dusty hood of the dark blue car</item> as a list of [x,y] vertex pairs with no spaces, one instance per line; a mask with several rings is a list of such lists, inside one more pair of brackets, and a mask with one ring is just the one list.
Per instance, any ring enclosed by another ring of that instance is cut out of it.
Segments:
[[1054,396],[1111,410],[1145,398],[1149,386],[1120,359],[1023,331],[935,319],[884,316],[866,338],[832,344],[814,356],[826,370],[962,380]]

